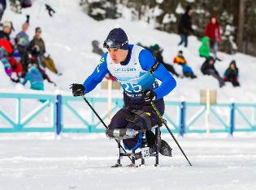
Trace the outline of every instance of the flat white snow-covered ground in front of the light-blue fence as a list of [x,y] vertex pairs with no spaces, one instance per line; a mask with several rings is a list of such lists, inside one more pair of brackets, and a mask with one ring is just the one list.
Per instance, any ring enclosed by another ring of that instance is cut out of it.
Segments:
[[[193,167],[170,135],[173,157],[145,167],[111,168],[115,141],[103,134],[0,135],[0,189],[256,189],[255,134],[178,137]],[[128,158],[122,162],[128,164]]]

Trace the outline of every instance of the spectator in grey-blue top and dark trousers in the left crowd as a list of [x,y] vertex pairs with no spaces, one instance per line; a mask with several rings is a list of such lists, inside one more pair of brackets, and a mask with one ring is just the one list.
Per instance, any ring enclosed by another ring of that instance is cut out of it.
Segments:
[[28,70],[28,44],[29,44],[29,37],[27,34],[29,27],[29,15],[27,15],[26,22],[22,25],[22,31],[19,32],[16,37],[16,44],[18,52],[20,53],[20,62],[24,68],[24,71],[27,72]]

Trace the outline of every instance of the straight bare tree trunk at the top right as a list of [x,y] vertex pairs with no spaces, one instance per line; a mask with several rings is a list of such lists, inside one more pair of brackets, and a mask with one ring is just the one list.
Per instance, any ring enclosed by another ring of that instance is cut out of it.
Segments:
[[239,52],[243,52],[245,1],[246,0],[239,0],[239,18],[238,18],[238,33],[237,33],[237,45],[238,45]]

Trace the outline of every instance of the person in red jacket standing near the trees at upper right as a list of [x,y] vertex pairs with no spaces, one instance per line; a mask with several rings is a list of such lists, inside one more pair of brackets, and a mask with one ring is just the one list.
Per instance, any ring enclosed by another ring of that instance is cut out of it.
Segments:
[[205,36],[210,38],[210,50],[214,53],[215,59],[219,59],[217,57],[218,51],[218,42],[221,40],[220,35],[220,26],[218,23],[218,19],[216,16],[212,16],[210,18],[210,22],[207,24]]

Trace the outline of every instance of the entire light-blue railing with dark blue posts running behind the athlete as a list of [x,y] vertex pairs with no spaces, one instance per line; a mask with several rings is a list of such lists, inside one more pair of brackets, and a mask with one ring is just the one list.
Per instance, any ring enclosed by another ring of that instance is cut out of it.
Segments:
[[[106,109],[102,110],[106,108],[102,103],[106,104],[107,99],[92,97],[87,99],[93,108],[96,107],[102,120],[107,122]],[[0,93],[0,133],[54,132],[59,134],[104,131],[101,122],[85,103],[80,103],[81,101],[84,100],[72,95],[41,95],[36,92],[34,94]],[[100,106],[98,106],[99,103],[101,103]],[[15,105],[12,106],[13,104]],[[113,99],[111,112],[115,113],[123,107],[123,104],[123,99]],[[163,116],[173,133],[180,133],[183,136],[184,133],[207,132],[203,117],[206,116],[206,104],[171,101],[166,101],[165,104],[166,110],[173,108],[177,110],[176,114],[174,114],[175,111],[166,111]],[[13,109],[11,113],[15,116],[8,113],[10,109]],[[213,104],[210,106],[212,121],[210,121],[209,132],[232,134],[256,131],[255,114],[256,103]],[[45,120],[47,122],[44,122]],[[6,125],[3,124],[4,122]],[[166,132],[165,129],[162,131]]]

